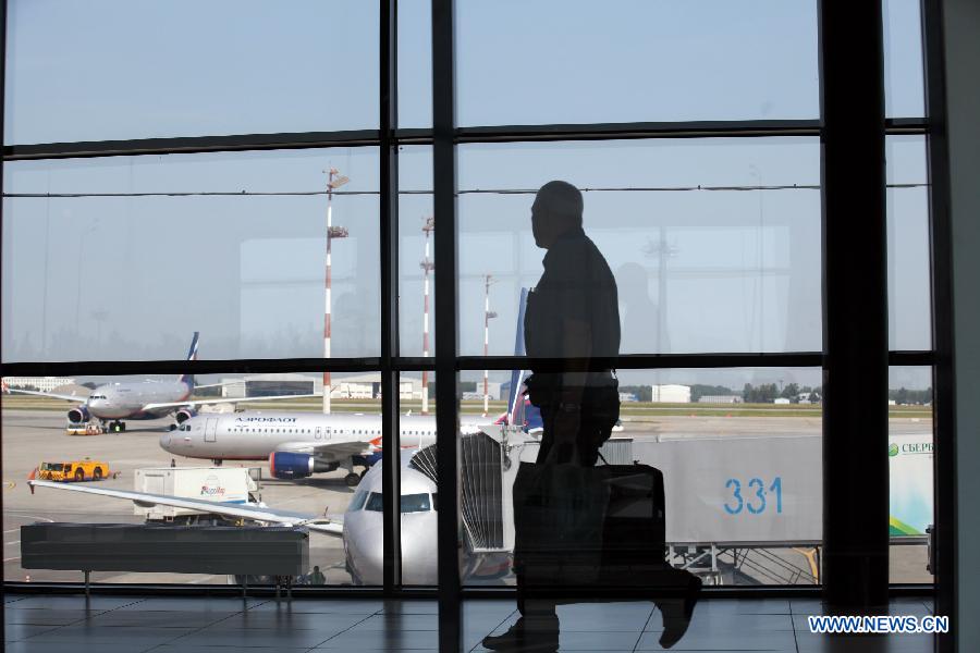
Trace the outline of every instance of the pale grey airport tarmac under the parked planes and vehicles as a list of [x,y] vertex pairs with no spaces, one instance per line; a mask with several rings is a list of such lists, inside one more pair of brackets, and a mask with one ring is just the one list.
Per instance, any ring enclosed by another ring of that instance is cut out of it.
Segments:
[[[91,459],[106,461],[115,479],[99,481],[100,486],[133,490],[135,470],[145,467],[170,466],[171,455],[160,448],[160,434],[171,423],[169,418],[152,421],[130,421],[123,433],[90,436],[70,436],[64,433],[64,415],[50,410],[2,411],[3,447],[3,572],[4,579],[23,581],[79,581],[82,574],[32,569],[20,565],[20,527],[35,521],[79,521],[139,523],[126,502],[78,493],[38,489],[32,495],[27,476],[41,461]],[[620,435],[637,441],[686,436],[759,436],[819,434],[821,421],[809,417],[662,417],[656,421],[625,421]],[[892,433],[930,433],[930,419],[890,420]],[[177,459],[177,466],[207,465],[204,460]],[[225,466],[238,464],[225,463]],[[249,466],[248,464],[241,464]],[[342,516],[353,490],[343,481],[343,470],[317,475],[301,481],[270,479],[268,465],[262,467],[261,495],[270,506],[309,514]],[[782,557],[782,556],[781,556]],[[893,582],[931,582],[924,569],[926,547],[920,545],[892,546]],[[319,565],[329,584],[347,584],[351,578],[344,569],[343,542],[340,538],[314,533],[310,537],[310,565]],[[224,583],[225,577],[203,575],[161,575],[94,572],[98,582],[177,582]]]

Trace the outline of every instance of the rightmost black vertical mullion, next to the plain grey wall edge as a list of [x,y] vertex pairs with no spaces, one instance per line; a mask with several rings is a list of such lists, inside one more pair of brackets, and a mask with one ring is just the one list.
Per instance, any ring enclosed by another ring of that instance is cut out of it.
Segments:
[[[956,514],[956,393],[953,341],[953,225],[951,215],[950,135],[946,119],[946,75],[943,3],[922,0],[922,51],[926,65],[926,140],[929,162],[929,222],[932,271],[933,375],[933,520],[935,614],[956,615],[958,603],[958,525]],[[938,651],[956,650],[953,634],[938,638]]]

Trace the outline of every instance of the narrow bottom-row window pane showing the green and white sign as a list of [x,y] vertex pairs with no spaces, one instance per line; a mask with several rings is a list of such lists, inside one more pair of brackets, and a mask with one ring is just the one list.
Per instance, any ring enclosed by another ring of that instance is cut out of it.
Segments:
[[932,369],[889,368],[890,582],[932,583],[927,528],[933,507]]

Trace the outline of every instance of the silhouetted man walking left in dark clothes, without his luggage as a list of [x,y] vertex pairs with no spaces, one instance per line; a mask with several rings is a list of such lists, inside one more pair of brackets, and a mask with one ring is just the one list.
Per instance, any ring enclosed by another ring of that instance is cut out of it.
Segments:
[[[527,299],[525,346],[531,358],[564,361],[564,371],[532,369],[534,373],[527,380],[528,397],[540,409],[543,421],[537,464],[571,463],[591,468],[599,458],[599,448],[609,440],[620,416],[618,382],[611,369],[620,350],[621,336],[616,281],[605,258],[583,230],[583,198],[575,186],[561,181],[544,184],[531,206],[531,230],[535,244],[548,252],[542,261],[544,271],[541,279]],[[600,368],[598,371],[590,371],[592,366],[589,361],[593,359],[607,362],[597,366]],[[518,472],[518,482],[519,476]],[[587,473],[583,478],[587,478]],[[514,494],[516,516],[519,507],[516,484]],[[576,520],[572,512],[563,516],[568,518],[565,523]],[[515,517],[518,542],[532,540],[527,531],[528,526],[535,525],[522,522]],[[654,597],[664,618],[661,644],[670,646],[687,629],[694,593],[700,588],[700,581],[687,571],[670,567],[662,559],[654,559],[658,542],[647,544],[650,547],[648,568],[651,571],[641,582],[651,589],[654,586],[671,587],[687,594],[684,599]],[[561,554],[556,555],[560,557]],[[503,634],[485,638],[486,648],[541,652],[558,649],[556,600],[528,587],[529,572],[539,579],[548,576],[542,567],[548,567],[550,562],[542,564],[540,560],[528,558],[525,554],[518,555],[515,549],[520,618]],[[561,564],[559,562],[559,568],[562,568]],[[587,584],[584,579],[571,580]]]

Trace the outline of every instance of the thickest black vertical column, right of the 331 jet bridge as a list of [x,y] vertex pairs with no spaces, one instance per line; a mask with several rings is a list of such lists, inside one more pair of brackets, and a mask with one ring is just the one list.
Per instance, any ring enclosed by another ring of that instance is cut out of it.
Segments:
[[887,273],[880,2],[820,2],[823,595],[887,603]]

